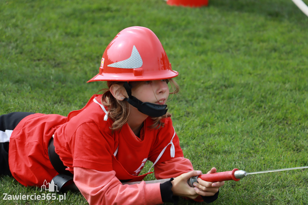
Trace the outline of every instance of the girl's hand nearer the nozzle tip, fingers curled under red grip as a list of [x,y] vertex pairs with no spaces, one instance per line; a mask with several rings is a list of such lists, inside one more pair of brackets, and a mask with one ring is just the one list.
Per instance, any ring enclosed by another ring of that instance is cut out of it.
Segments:
[[[213,167],[207,174],[216,173],[216,168]],[[198,183],[193,183],[194,190],[198,195],[201,196],[213,196],[219,190],[219,187],[225,184],[224,181],[222,182],[207,182],[200,178],[197,179]],[[172,190],[172,189],[171,189]]]

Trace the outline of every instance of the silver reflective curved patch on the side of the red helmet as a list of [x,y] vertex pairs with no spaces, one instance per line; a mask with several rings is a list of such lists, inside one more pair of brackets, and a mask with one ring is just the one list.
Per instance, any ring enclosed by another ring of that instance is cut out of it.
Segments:
[[133,46],[132,54],[131,56],[123,61],[115,62],[108,67],[114,67],[114,68],[140,68],[142,66],[143,62],[141,59],[141,56],[136,49],[136,46]]

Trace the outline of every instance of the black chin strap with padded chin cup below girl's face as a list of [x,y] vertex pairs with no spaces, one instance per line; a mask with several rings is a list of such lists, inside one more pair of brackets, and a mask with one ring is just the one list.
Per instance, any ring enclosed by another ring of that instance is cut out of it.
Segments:
[[161,117],[167,113],[167,105],[157,105],[151,102],[141,102],[134,96],[132,96],[132,86],[128,82],[124,82],[124,88],[128,94],[128,98],[125,100],[136,107],[141,113],[150,117]]

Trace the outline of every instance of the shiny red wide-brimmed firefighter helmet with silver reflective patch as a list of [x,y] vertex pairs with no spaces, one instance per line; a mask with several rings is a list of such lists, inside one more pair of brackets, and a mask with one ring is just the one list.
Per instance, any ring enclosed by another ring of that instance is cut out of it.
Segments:
[[107,46],[93,81],[146,81],[174,78],[167,54],[157,36],[148,28],[133,26]]

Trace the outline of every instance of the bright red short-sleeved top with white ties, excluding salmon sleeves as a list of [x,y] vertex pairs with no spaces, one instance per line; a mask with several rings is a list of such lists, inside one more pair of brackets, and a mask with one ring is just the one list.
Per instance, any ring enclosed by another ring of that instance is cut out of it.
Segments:
[[58,174],[48,157],[52,136],[55,151],[69,171],[73,167],[115,171],[120,180],[137,178],[146,160],[159,164],[183,156],[170,118],[163,119],[165,125],[159,129],[150,129],[152,119],[147,118],[140,138],[128,124],[112,133],[112,120],[100,98],[93,95],[83,109],[68,117],[33,114],[23,119],[10,137],[9,166],[14,178],[25,186],[41,186]]

